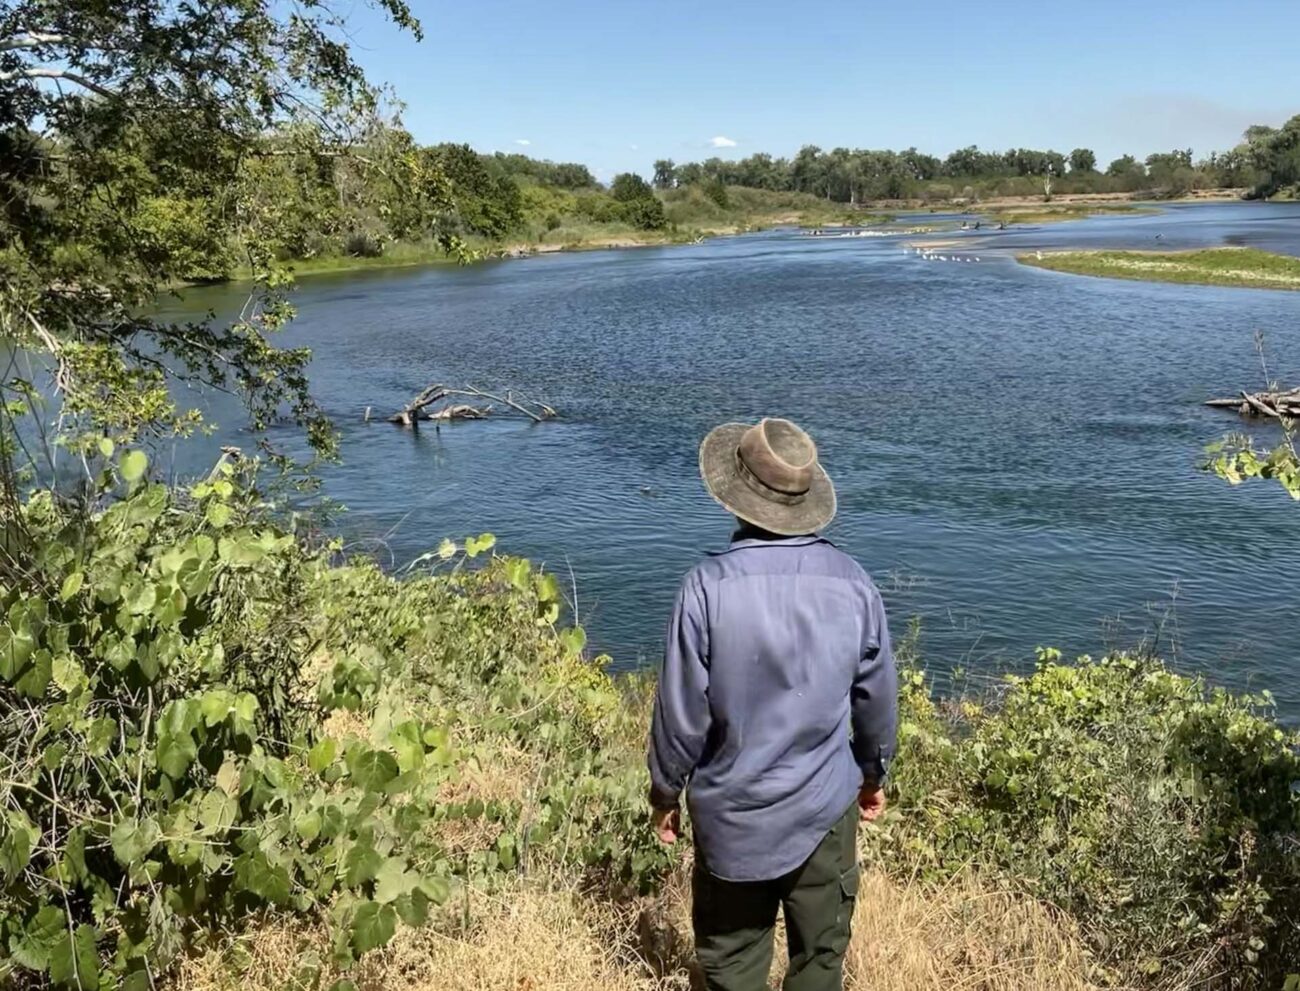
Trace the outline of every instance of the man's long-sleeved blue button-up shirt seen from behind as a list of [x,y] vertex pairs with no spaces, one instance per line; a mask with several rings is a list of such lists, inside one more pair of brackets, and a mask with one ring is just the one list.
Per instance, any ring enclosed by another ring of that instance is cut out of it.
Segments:
[[677,596],[650,731],[651,802],[671,808],[686,791],[711,874],[781,877],[863,780],[883,782],[897,694],[867,574],[822,537],[737,535]]

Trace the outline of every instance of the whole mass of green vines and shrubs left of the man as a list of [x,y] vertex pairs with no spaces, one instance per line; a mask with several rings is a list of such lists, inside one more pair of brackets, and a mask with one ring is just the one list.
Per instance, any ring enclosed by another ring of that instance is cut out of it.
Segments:
[[[148,988],[266,909],[326,918],[346,969],[458,878],[662,873],[641,717],[556,633],[552,576],[486,536],[429,555],[450,574],[332,566],[242,468],[187,493],[144,469],[100,511],[38,493],[5,520],[0,983]],[[465,792],[519,754],[517,800]]]

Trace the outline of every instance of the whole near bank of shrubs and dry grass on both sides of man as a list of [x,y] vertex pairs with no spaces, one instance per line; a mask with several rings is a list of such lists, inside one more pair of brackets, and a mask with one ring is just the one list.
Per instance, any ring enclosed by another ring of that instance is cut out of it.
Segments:
[[[242,464],[176,493],[133,458],[90,515],[35,497],[0,588],[0,984],[688,986],[649,684],[554,576],[481,536],[396,579],[266,519]],[[1054,652],[941,700],[900,657],[850,987],[1280,986],[1300,760],[1268,700]]]

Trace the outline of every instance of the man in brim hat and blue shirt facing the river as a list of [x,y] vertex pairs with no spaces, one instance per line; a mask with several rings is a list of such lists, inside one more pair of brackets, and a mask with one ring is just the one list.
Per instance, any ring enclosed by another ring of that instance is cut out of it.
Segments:
[[880,593],[818,536],[835,488],[789,420],[727,424],[699,449],[740,520],[682,583],[650,732],[663,843],[686,791],[696,949],[708,988],[767,986],[777,905],[785,991],[838,991],[858,891],[857,825],[885,808],[897,675]]

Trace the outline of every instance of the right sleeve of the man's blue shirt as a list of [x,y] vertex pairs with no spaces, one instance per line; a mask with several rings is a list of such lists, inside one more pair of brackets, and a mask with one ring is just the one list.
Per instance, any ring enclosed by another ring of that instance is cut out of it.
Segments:
[[862,782],[884,784],[898,731],[898,671],[889,644],[885,606],[875,587],[870,588],[866,637],[850,705],[853,756],[862,769]]

